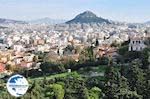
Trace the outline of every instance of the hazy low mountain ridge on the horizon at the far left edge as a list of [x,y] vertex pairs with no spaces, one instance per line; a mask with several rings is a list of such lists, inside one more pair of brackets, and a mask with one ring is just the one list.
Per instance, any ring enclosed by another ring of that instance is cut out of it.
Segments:
[[17,20],[12,20],[12,19],[3,19],[0,18],[0,24],[25,24],[25,21],[17,21]]

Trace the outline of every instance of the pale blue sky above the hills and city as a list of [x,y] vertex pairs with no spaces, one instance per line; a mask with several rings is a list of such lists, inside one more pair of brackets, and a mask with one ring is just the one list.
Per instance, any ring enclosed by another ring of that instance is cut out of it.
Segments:
[[0,0],[0,18],[72,19],[84,11],[122,22],[150,21],[150,0]]

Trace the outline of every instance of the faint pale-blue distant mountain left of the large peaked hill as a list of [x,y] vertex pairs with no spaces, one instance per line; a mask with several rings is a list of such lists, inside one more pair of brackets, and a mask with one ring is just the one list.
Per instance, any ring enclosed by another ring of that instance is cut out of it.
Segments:
[[29,23],[33,24],[59,24],[59,23],[64,23],[66,20],[61,20],[61,19],[51,19],[51,18],[42,18],[42,19],[37,19],[37,20],[32,20],[29,21]]

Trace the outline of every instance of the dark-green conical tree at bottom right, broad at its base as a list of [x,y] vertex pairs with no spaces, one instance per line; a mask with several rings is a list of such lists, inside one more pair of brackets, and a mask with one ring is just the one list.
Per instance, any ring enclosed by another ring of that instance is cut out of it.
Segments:
[[130,90],[128,80],[124,76],[121,76],[119,71],[115,71],[113,67],[109,67],[105,75],[104,98],[141,99],[141,95],[136,90]]

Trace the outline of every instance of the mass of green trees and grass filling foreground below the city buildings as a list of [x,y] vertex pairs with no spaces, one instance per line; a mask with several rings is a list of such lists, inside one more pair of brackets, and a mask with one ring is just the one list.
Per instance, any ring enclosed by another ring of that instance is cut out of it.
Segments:
[[[127,45],[122,47],[125,46]],[[81,63],[73,61],[65,65],[42,63],[40,68],[43,76],[29,78],[29,90],[21,99],[150,99],[150,71],[143,68],[142,64],[149,65],[150,50],[144,49],[142,52],[128,52],[127,48],[119,50],[122,58],[129,60],[128,64],[121,64],[121,67],[113,66],[112,59],[107,57],[101,58],[98,63],[91,61],[92,47],[82,53],[86,61]],[[141,60],[135,60],[135,58]],[[100,63],[109,66],[99,66]],[[71,68],[74,71],[81,67],[82,70],[79,72],[82,75],[85,72],[88,74],[89,71],[105,72],[105,75],[95,77],[86,75],[85,78],[77,72],[50,75],[64,72],[65,68]],[[4,86],[4,80],[0,80],[0,99],[15,99],[9,95]]]

